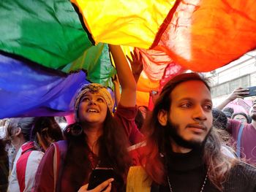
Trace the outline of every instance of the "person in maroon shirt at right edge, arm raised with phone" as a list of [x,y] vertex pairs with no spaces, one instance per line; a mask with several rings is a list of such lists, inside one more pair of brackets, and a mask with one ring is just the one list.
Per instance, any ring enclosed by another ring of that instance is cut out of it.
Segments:
[[[227,98],[217,106],[222,110],[231,101],[249,94],[247,88],[236,88]],[[236,141],[236,155],[245,158],[249,164],[256,165],[256,102],[254,101],[249,110],[249,117],[252,123],[241,123],[239,120],[228,119],[227,131]]]

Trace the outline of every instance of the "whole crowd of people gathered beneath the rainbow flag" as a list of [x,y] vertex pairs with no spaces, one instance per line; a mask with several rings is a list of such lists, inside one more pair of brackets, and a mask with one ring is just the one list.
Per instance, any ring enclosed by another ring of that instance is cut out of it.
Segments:
[[[152,109],[138,107],[141,55],[128,59],[131,70],[121,47],[109,47],[116,98],[83,85],[64,131],[53,117],[11,118],[5,142],[16,153],[9,161],[0,140],[0,191],[256,191],[256,101],[249,117],[222,111],[246,88],[214,107],[208,80],[184,73],[154,94]],[[92,185],[99,169],[113,174]]]

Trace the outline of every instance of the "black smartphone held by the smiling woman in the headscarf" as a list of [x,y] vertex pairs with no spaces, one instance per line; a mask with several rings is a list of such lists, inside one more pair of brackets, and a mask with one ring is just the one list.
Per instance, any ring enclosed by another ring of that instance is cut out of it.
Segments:
[[96,188],[99,184],[103,183],[105,180],[110,178],[115,179],[115,172],[113,168],[108,167],[97,167],[91,172],[89,178],[88,190]]

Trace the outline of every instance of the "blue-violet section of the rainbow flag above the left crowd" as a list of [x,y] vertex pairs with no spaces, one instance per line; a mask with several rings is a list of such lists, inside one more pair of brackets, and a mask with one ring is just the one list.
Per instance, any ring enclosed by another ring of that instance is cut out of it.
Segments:
[[82,71],[67,75],[1,54],[0,118],[67,115],[76,91],[87,83]]

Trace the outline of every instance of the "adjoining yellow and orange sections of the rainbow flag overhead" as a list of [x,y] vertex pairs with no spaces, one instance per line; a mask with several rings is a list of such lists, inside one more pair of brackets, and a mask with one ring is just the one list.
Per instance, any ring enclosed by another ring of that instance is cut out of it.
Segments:
[[254,0],[72,2],[96,42],[150,47],[150,54],[162,51],[195,72],[225,66],[256,48]]

